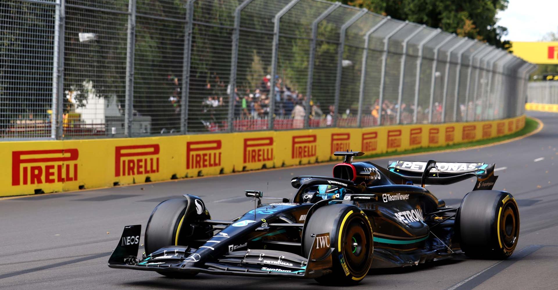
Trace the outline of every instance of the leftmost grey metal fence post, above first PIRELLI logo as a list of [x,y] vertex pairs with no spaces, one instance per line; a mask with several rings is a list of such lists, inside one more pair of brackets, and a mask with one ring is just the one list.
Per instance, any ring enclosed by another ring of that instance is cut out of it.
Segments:
[[50,116],[50,137],[62,139],[64,126],[64,35],[66,0],[56,0],[54,23],[54,51],[52,58],[52,114]]

